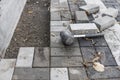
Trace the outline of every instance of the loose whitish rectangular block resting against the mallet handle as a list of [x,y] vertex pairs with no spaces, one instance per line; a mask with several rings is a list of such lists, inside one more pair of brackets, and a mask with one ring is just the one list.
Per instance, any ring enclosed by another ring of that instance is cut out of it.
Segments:
[[70,30],[74,35],[95,34],[99,32],[97,26],[94,23],[70,24]]

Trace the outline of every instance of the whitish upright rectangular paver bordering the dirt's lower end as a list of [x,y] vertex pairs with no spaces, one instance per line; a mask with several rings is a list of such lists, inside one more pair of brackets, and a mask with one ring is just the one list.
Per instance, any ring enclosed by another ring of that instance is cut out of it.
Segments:
[[21,47],[16,67],[32,67],[34,47]]

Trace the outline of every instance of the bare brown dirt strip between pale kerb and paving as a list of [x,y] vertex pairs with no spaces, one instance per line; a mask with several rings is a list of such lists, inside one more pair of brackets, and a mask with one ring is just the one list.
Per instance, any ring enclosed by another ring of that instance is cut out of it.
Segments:
[[49,47],[49,0],[28,0],[5,58],[16,58],[20,47]]

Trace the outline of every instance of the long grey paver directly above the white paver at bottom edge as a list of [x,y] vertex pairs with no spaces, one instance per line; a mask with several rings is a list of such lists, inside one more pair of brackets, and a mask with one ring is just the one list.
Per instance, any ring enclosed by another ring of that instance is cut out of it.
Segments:
[[51,57],[52,67],[82,66],[82,57]]

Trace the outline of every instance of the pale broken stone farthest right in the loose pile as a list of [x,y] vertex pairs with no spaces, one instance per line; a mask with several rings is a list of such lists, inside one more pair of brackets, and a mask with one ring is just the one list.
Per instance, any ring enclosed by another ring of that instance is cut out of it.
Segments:
[[118,9],[115,8],[108,8],[102,14],[102,16],[110,16],[116,18],[118,15]]

